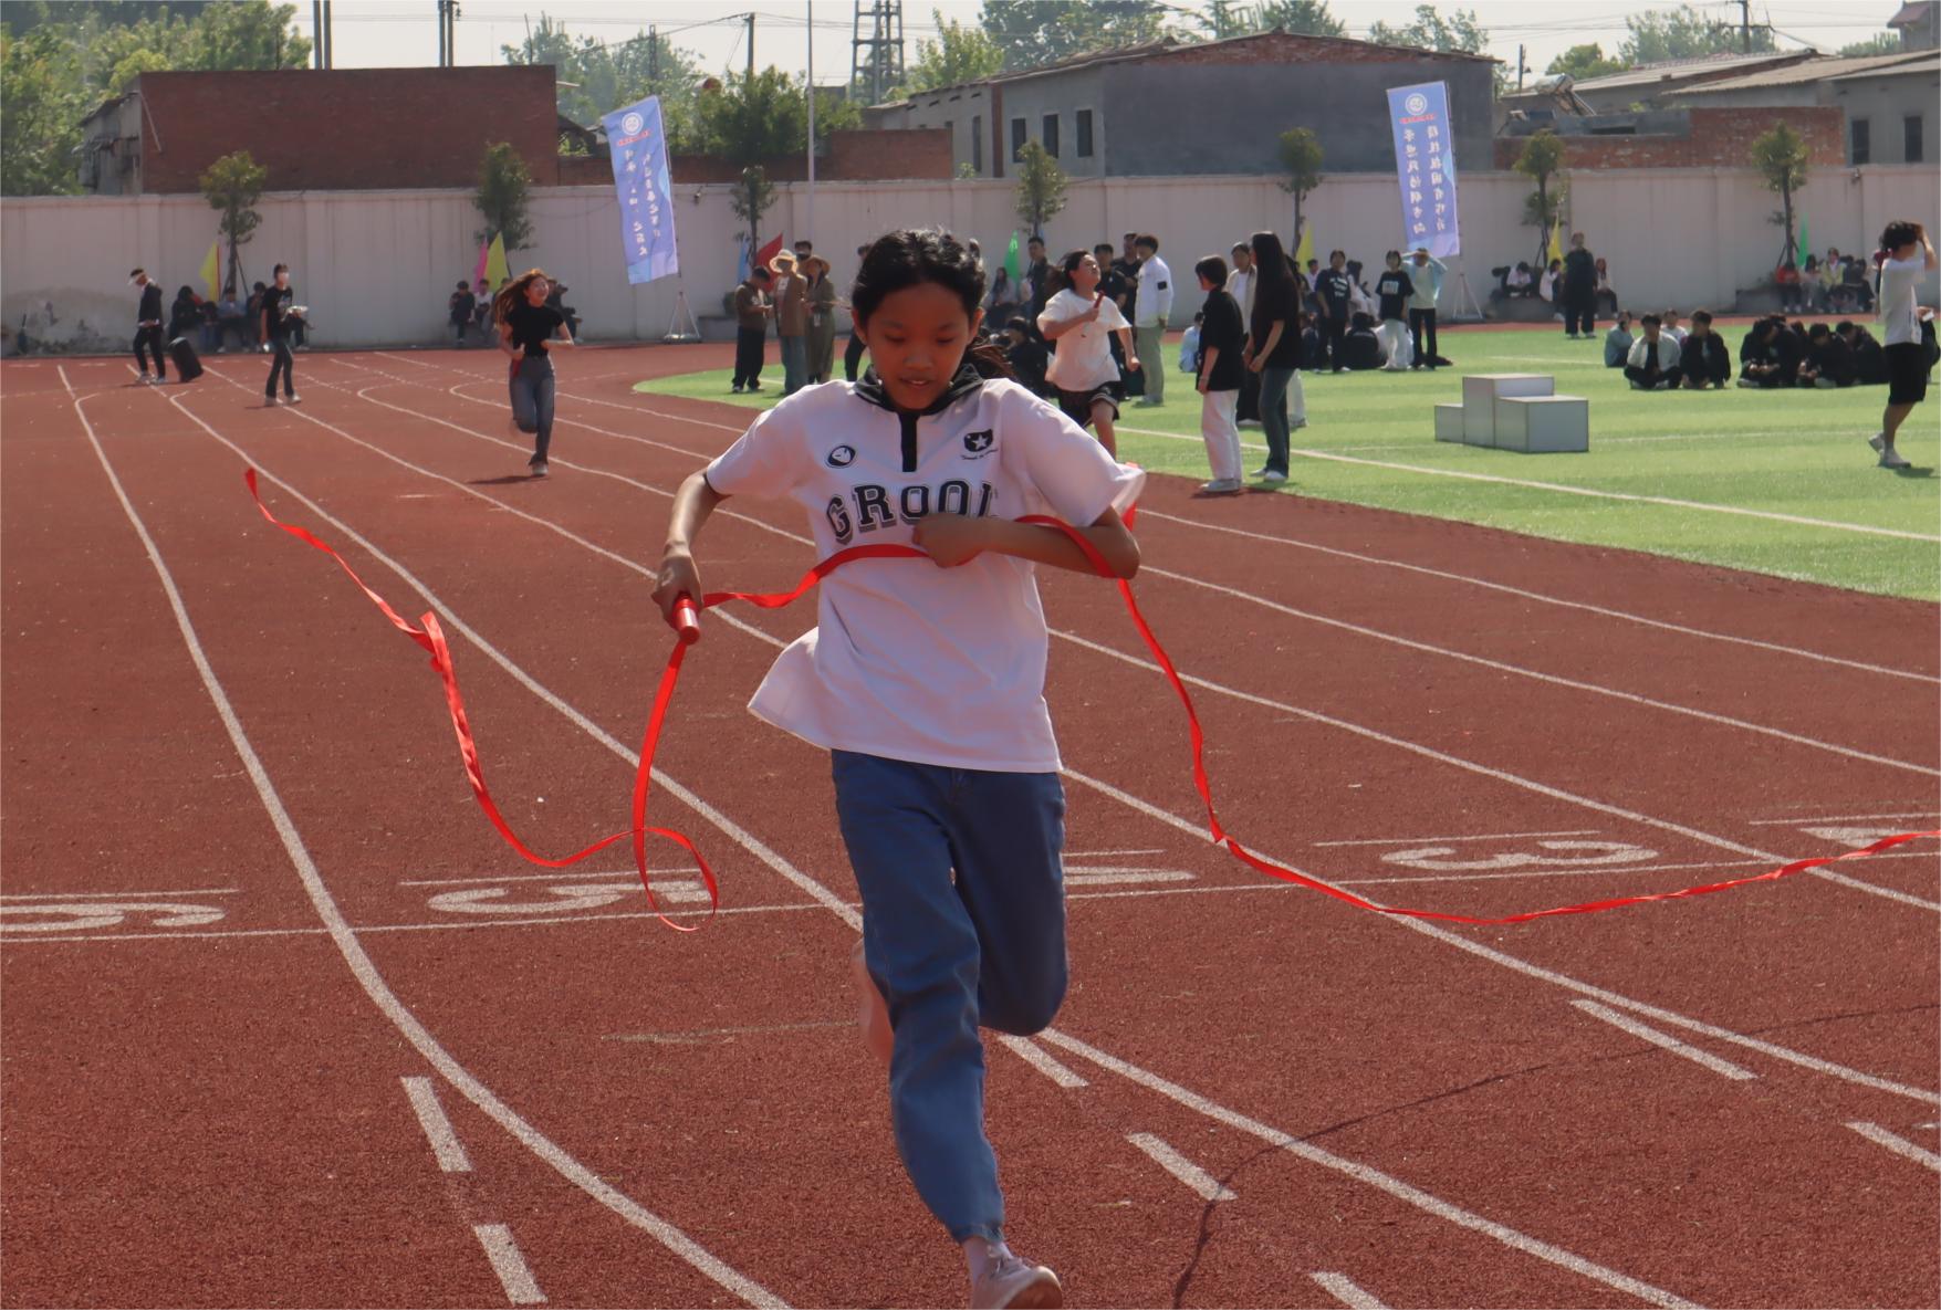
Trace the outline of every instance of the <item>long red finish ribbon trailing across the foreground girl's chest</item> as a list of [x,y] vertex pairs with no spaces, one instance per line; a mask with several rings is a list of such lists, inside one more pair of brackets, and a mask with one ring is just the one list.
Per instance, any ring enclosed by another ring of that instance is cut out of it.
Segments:
[[[293,524],[285,524],[280,518],[276,518],[276,514],[270,512],[270,508],[262,503],[262,495],[258,495],[258,491],[256,491],[256,470],[254,468],[247,470],[243,474],[243,479],[248,483],[250,497],[256,501],[256,508],[262,510],[264,518],[268,518],[272,524],[276,524],[283,532],[291,534],[293,538],[297,538],[305,545],[311,545],[311,547],[314,547],[318,551],[324,551],[334,561],[338,561],[338,567],[344,569],[345,574],[349,574],[351,582],[355,582],[357,588],[367,598],[371,598],[371,604],[375,604],[384,613],[384,617],[392,621],[392,625],[400,633],[404,633],[406,637],[410,637],[411,640],[415,640],[419,646],[423,646],[431,654],[431,668],[439,675],[439,681],[444,685],[444,704],[446,704],[446,708],[450,710],[450,716],[452,716],[452,732],[458,736],[458,753],[460,753],[460,757],[464,759],[464,765],[466,765],[466,780],[472,784],[472,794],[477,800],[479,809],[485,811],[485,817],[499,831],[499,835],[512,846],[512,850],[516,850],[520,856],[524,856],[526,860],[530,860],[530,862],[534,862],[538,866],[543,866],[543,868],[549,868],[549,869],[559,869],[559,868],[565,868],[569,864],[576,864],[576,862],[584,860],[586,856],[590,856],[590,854],[594,854],[598,850],[606,850],[608,846],[611,846],[613,842],[621,840],[623,836],[631,836],[633,838],[635,866],[637,866],[637,869],[641,873],[641,885],[646,889],[646,902],[648,902],[648,906],[654,910],[654,914],[660,918],[660,922],[668,924],[670,928],[674,928],[677,932],[693,932],[691,928],[681,928],[679,924],[675,924],[674,920],[670,920],[666,914],[662,914],[660,912],[660,904],[654,901],[654,887],[652,887],[652,881],[648,879],[648,873],[646,873],[646,835],[652,833],[656,836],[666,836],[668,840],[675,842],[677,846],[681,846],[683,850],[687,850],[695,858],[695,864],[701,869],[701,881],[708,889],[708,904],[710,904],[710,908],[718,908],[720,906],[720,893],[718,893],[718,887],[714,883],[714,873],[712,873],[712,869],[708,869],[708,862],[701,856],[701,850],[683,833],[679,833],[675,829],[660,829],[660,827],[648,827],[646,825],[646,798],[648,798],[648,786],[650,786],[652,770],[654,770],[654,751],[660,745],[660,734],[662,734],[662,728],[668,722],[668,706],[674,701],[674,687],[679,683],[679,677],[681,677],[681,662],[687,658],[687,648],[695,640],[695,633],[693,631],[683,631],[675,639],[674,650],[668,654],[668,664],[666,664],[666,668],[660,673],[660,685],[654,691],[654,706],[652,706],[652,710],[648,714],[646,732],[642,734],[642,741],[641,741],[641,765],[639,765],[639,770],[635,772],[635,782],[633,782],[633,825],[627,831],[613,833],[611,836],[604,836],[598,842],[594,842],[592,846],[586,846],[584,850],[578,850],[578,852],[575,852],[571,856],[565,856],[565,858],[559,858],[559,860],[551,860],[551,858],[540,856],[530,846],[526,846],[526,842],[522,842],[516,833],[512,833],[510,825],[507,825],[505,817],[499,813],[499,807],[493,803],[491,792],[485,788],[485,769],[479,763],[477,743],[472,737],[472,724],[466,720],[464,699],[458,695],[458,673],[452,668],[452,652],[450,652],[450,646],[444,640],[444,631],[439,627],[437,615],[431,613],[431,611],[427,611],[419,619],[419,627],[413,627],[411,623],[408,623],[396,609],[392,609],[384,602],[382,596],[378,596],[377,592],[373,592],[363,582],[363,578],[357,576],[357,573],[349,567],[349,563],[344,561],[342,555],[338,555],[336,549],[332,549],[330,545],[326,545],[324,541],[320,541],[311,532],[307,532],[303,528],[297,528]],[[1135,516],[1135,510],[1128,510],[1126,512],[1126,526],[1128,528],[1132,526],[1134,516]],[[1205,803],[1207,831],[1209,831],[1213,842],[1217,846],[1223,846],[1234,860],[1240,860],[1242,864],[1246,864],[1248,868],[1256,869],[1258,873],[1266,873],[1267,877],[1279,879],[1283,883],[1295,883],[1299,887],[1308,887],[1310,891],[1318,891],[1318,893],[1322,893],[1326,897],[1333,897],[1335,901],[1351,904],[1351,906],[1355,906],[1359,910],[1372,910],[1376,914],[1396,914],[1396,916],[1403,916],[1403,918],[1429,918],[1429,920],[1440,920],[1440,922],[1446,922],[1446,924],[1526,924],[1530,920],[1553,918],[1553,916],[1559,916],[1559,914],[1596,914],[1599,910],[1615,910],[1615,908],[1625,906],[1625,904],[1644,904],[1644,902],[1650,902],[1650,901],[1681,901],[1681,899],[1687,899],[1687,897],[1704,897],[1704,895],[1710,895],[1710,893],[1716,893],[1716,891],[1727,891],[1731,887],[1745,887],[1747,883],[1770,883],[1770,881],[1788,877],[1792,873],[1803,873],[1805,869],[1817,869],[1817,868],[1826,866],[1826,864],[1840,864],[1842,860],[1863,860],[1867,856],[1875,856],[1875,854],[1879,854],[1883,850],[1891,850],[1891,848],[1902,846],[1906,842],[1922,840],[1922,838],[1927,838],[1927,836],[1941,836],[1941,831],[1929,831],[1929,833],[1896,833],[1894,836],[1883,836],[1881,840],[1877,840],[1877,842],[1873,842],[1869,846],[1863,846],[1859,850],[1848,850],[1848,852],[1838,854],[1838,856],[1817,856],[1817,858],[1811,858],[1811,860],[1793,860],[1792,864],[1784,864],[1784,866],[1780,866],[1776,869],[1766,869],[1764,873],[1757,873],[1753,877],[1733,877],[1733,879],[1727,879],[1724,883],[1706,883],[1704,887],[1683,887],[1679,891],[1660,891],[1660,893],[1648,893],[1648,895],[1642,895],[1642,897],[1611,897],[1611,899],[1605,899],[1605,901],[1586,901],[1582,904],[1561,904],[1561,906],[1553,906],[1549,910],[1526,910],[1524,914],[1506,914],[1506,916],[1500,916],[1500,918],[1479,918],[1479,916],[1471,916],[1471,914],[1448,914],[1448,912],[1442,912],[1442,910],[1409,910],[1409,908],[1401,908],[1401,906],[1378,904],[1374,901],[1365,901],[1363,897],[1357,897],[1351,891],[1345,891],[1341,887],[1333,887],[1333,885],[1324,883],[1324,881],[1320,881],[1316,877],[1300,873],[1299,869],[1291,869],[1291,868],[1287,868],[1283,864],[1275,864],[1273,860],[1267,860],[1264,856],[1256,856],[1254,852],[1250,852],[1246,846],[1242,846],[1234,836],[1231,836],[1227,833],[1225,825],[1221,825],[1219,815],[1213,809],[1213,784],[1207,778],[1207,769],[1205,769],[1205,732],[1200,726],[1200,714],[1198,714],[1198,710],[1194,710],[1194,699],[1186,691],[1186,683],[1184,683],[1184,679],[1180,679],[1180,673],[1174,668],[1172,658],[1167,654],[1165,646],[1159,644],[1159,639],[1153,635],[1153,629],[1145,621],[1145,615],[1139,613],[1139,602],[1134,600],[1132,584],[1126,582],[1124,578],[1118,578],[1114,574],[1112,567],[1106,563],[1104,555],[1099,553],[1099,547],[1095,547],[1091,543],[1091,540],[1087,540],[1085,534],[1081,534],[1071,524],[1066,524],[1066,522],[1062,522],[1058,518],[1048,518],[1044,514],[1029,514],[1029,516],[1021,518],[1019,522],[1042,524],[1046,528],[1054,528],[1058,532],[1064,532],[1073,541],[1073,545],[1077,545],[1077,549],[1085,555],[1085,561],[1093,567],[1095,573],[1099,573],[1099,576],[1112,578],[1116,582],[1118,594],[1126,602],[1126,613],[1132,617],[1134,627],[1139,631],[1139,639],[1145,642],[1145,648],[1153,654],[1153,660],[1159,664],[1161,673],[1165,673],[1167,683],[1170,683],[1172,693],[1180,699],[1180,706],[1186,710],[1186,730],[1188,730],[1188,737],[1192,739],[1194,788],[1200,792],[1200,800]],[[926,555],[924,551],[916,549],[914,545],[889,545],[889,543],[881,543],[881,545],[852,545],[850,549],[837,551],[829,559],[817,563],[813,569],[809,569],[806,574],[802,574],[802,580],[796,582],[796,586],[792,590],[788,590],[788,592],[708,592],[707,596],[701,598],[699,607],[701,609],[712,609],[712,607],[728,604],[728,602],[741,602],[741,604],[757,606],[761,609],[780,609],[780,607],[784,607],[784,606],[794,604],[796,600],[800,600],[804,594],[807,594],[811,588],[815,588],[817,584],[821,584],[821,580],[827,578],[837,569],[842,569],[844,565],[856,563],[858,559],[926,559],[928,561],[930,555]]]

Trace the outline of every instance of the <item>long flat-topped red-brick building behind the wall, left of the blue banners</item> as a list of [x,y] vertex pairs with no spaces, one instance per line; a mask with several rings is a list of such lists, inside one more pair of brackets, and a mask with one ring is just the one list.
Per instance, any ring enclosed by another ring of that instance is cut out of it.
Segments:
[[247,149],[272,190],[477,186],[493,142],[538,186],[559,182],[553,68],[328,68],[151,72],[83,120],[82,186],[97,194],[200,190]]

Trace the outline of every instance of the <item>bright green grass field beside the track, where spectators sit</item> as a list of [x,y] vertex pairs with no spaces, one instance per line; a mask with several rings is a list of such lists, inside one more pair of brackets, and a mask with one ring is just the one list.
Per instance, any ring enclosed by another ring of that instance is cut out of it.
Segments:
[[[1741,334],[1726,330],[1735,351]],[[1865,441],[1879,431],[1885,386],[1634,392],[1619,371],[1603,367],[1601,342],[1570,342],[1561,328],[1450,330],[1442,353],[1456,367],[1302,373],[1308,427],[1295,433],[1285,491],[1941,600],[1941,390],[1902,427],[1900,450],[1914,468],[1896,474],[1875,468]],[[1168,344],[1167,365],[1167,404],[1128,404],[1120,456],[1157,474],[1203,479],[1200,398],[1176,371],[1176,345]],[[1561,394],[1590,398],[1590,452],[1514,454],[1436,442],[1432,406],[1462,400],[1464,373],[1555,375]],[[726,369],[656,378],[637,390],[767,408],[778,400],[780,367],[771,365],[763,380],[769,390],[757,396],[730,396]],[[1240,441],[1248,468],[1258,468],[1260,431],[1242,429]]]

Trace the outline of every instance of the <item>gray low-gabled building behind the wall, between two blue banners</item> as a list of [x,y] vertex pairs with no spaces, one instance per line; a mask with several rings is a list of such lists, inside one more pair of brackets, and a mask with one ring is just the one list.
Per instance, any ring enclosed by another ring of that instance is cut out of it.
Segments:
[[1007,177],[1027,142],[1073,179],[1279,173],[1289,128],[1320,136],[1328,173],[1392,173],[1388,89],[1446,82],[1456,167],[1487,169],[1495,62],[1285,31],[1155,41],[924,91],[866,109],[864,122],[947,128],[970,177]]

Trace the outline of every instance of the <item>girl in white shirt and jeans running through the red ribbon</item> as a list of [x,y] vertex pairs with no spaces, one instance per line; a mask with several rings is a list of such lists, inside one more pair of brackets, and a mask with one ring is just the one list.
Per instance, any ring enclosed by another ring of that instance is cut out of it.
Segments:
[[978,1029],[1036,1032],[1066,994],[1066,800],[1035,565],[1091,565],[1017,518],[1077,524],[1132,576],[1120,510],[1145,475],[965,357],[982,301],[982,264],[945,233],[870,246],[850,305],[873,369],[790,396],[681,485],[654,600],[672,613],[701,596],[695,538],[732,495],[802,505],[823,557],[858,540],[930,555],[831,574],[819,625],[749,708],[831,751],[864,904],[866,1031],[887,1054],[897,1151],[963,1248],[970,1304],[1060,1306],[1058,1277],[1003,1242]]

